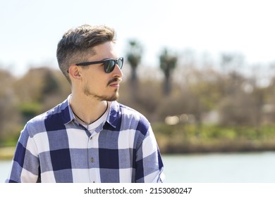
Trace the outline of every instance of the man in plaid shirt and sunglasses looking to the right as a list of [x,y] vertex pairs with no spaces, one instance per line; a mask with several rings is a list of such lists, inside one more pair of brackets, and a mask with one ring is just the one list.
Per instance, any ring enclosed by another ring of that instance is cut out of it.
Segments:
[[123,58],[110,27],[82,25],[57,47],[71,95],[27,122],[6,182],[163,182],[147,119],[116,100]]

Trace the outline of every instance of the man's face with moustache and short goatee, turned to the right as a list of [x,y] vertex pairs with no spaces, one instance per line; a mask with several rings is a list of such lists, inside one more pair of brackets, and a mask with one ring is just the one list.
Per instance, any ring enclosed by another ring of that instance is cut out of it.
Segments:
[[[106,42],[98,46],[94,46],[96,55],[91,56],[88,61],[102,61],[107,58],[116,59],[114,51],[114,43]],[[87,69],[82,70],[83,92],[86,96],[92,96],[99,101],[116,101],[118,99],[118,89],[123,73],[118,65],[112,72],[104,72],[104,65],[94,64],[88,65]]]

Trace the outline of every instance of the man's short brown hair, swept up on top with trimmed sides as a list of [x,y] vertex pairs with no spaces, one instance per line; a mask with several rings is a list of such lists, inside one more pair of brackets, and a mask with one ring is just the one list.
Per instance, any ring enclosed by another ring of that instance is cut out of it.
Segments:
[[88,61],[87,58],[94,54],[93,47],[105,42],[115,42],[116,32],[105,25],[81,25],[72,28],[63,34],[56,50],[59,68],[71,83],[68,68],[74,63]]

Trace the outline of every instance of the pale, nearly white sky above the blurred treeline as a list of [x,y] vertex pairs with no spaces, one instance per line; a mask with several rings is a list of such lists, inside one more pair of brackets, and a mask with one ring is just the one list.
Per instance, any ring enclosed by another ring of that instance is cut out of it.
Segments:
[[35,65],[58,68],[57,43],[82,24],[114,27],[119,56],[138,40],[145,65],[158,66],[164,47],[271,63],[274,19],[272,0],[0,0],[0,68],[16,75]]

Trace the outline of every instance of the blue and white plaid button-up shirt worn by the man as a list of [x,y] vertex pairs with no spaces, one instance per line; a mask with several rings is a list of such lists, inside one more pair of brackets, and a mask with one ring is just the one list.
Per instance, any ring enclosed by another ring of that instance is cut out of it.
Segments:
[[69,97],[25,125],[6,182],[163,182],[163,163],[147,119],[111,102],[91,134]]

